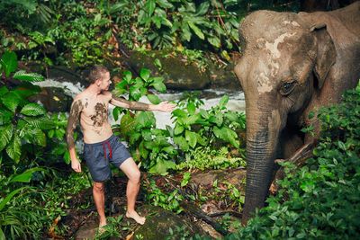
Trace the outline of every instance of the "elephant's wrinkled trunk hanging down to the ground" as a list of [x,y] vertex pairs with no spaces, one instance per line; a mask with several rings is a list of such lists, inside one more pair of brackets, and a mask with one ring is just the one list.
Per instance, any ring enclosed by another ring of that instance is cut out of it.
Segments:
[[[254,115],[263,117],[256,117],[255,120],[251,117]],[[278,124],[274,124],[273,117],[274,114],[270,112],[254,114],[247,111],[247,186],[243,225],[247,224],[247,219],[252,217],[255,209],[264,206],[273,176],[278,136]]]

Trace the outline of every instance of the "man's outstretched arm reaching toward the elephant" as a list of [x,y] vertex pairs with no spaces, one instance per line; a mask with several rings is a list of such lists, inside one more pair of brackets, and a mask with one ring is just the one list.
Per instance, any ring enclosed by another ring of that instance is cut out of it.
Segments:
[[121,108],[139,111],[173,111],[175,108],[175,104],[169,102],[160,102],[157,105],[147,104],[144,102],[131,102],[126,99],[114,96],[113,94],[110,103]]

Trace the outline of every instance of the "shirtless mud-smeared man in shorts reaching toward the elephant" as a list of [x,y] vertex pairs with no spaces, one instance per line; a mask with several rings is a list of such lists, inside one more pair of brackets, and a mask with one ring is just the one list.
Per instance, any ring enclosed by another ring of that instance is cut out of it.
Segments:
[[140,172],[138,165],[131,158],[128,150],[119,138],[112,135],[108,121],[108,105],[140,111],[172,111],[174,104],[161,102],[158,105],[142,102],[129,102],[108,92],[110,73],[105,67],[94,67],[89,75],[90,85],[76,95],[71,105],[67,121],[67,146],[71,158],[71,167],[76,173],[81,172],[81,165],[76,157],[74,129],[78,120],[84,135],[85,161],[94,181],[93,195],[99,214],[99,227],[106,225],[104,214],[104,181],[111,177],[109,162],[116,165],[129,178],[126,197],[126,217],[144,224],[145,218],[135,211],[135,201],[139,192]]

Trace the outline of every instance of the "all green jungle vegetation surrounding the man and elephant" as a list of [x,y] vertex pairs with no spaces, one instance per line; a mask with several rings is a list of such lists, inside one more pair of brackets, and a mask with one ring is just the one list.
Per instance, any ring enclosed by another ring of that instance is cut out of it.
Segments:
[[[37,63],[88,67],[114,64],[121,49],[146,52],[170,49],[199,65],[207,59],[230,61],[240,49],[238,23],[257,9],[299,11],[304,1],[139,0],[0,2],[0,239],[68,236],[61,224],[73,208],[72,197],[91,186],[88,174],[70,171],[66,112],[51,113],[29,98],[44,80],[27,71]],[[211,56],[211,58],[207,58]],[[166,92],[161,77],[142,69],[133,76],[121,69],[114,92],[129,99],[146,96],[157,103]],[[344,102],[320,112],[323,132],[314,157],[301,169],[284,164],[286,177],[247,227],[224,217],[234,229],[229,239],[356,238],[359,232],[360,88]],[[245,115],[229,111],[224,96],[210,110],[196,94],[184,94],[172,112],[174,128],[157,129],[151,112],[112,111],[114,132],[129,142],[132,156],[147,174],[180,173],[179,190],[192,171],[246,167]],[[122,117],[120,117],[122,115]],[[311,130],[311,129],[304,129]],[[80,136],[79,136],[80,137]],[[229,154],[235,152],[236,154]],[[148,204],[181,214],[181,202],[201,204],[211,196],[162,189],[151,180],[142,188]],[[244,192],[229,182],[214,182],[212,191],[241,211]],[[222,194],[222,195],[221,195]],[[89,209],[91,203],[76,206]],[[121,217],[110,220],[106,237],[120,236]],[[119,225],[120,224],[120,225]],[[117,228],[118,227],[118,228]],[[169,236],[173,230],[169,229]],[[186,236],[190,239],[190,236]],[[192,236],[203,239],[207,236]]]

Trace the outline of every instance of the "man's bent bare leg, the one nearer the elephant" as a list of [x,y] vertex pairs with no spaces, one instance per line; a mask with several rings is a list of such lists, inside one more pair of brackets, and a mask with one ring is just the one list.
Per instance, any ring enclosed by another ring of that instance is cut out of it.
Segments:
[[126,217],[133,218],[137,223],[144,224],[145,218],[140,217],[135,211],[135,201],[139,193],[140,188],[140,171],[137,164],[130,157],[120,165],[120,169],[129,178],[128,185],[126,187],[126,198],[128,200],[128,207],[126,209]]

